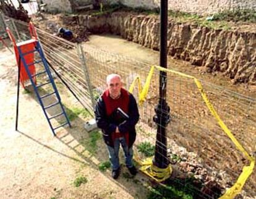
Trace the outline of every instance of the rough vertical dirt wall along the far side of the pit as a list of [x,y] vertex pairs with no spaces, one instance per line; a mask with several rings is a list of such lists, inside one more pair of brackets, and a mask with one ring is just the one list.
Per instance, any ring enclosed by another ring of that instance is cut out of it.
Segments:
[[[108,16],[80,15],[79,23],[95,34],[113,33],[160,49],[158,17],[115,12]],[[213,30],[169,20],[168,54],[208,72],[221,71],[234,83],[256,84],[256,31]]]

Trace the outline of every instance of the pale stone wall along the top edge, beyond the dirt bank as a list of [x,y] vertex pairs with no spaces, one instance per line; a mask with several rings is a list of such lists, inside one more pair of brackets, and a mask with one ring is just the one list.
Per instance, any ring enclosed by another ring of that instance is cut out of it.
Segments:
[[[146,7],[153,9],[160,6],[161,0],[108,0],[112,3],[121,2],[130,7]],[[169,0],[168,8],[197,14],[213,14],[221,10],[254,9],[255,0]]]

